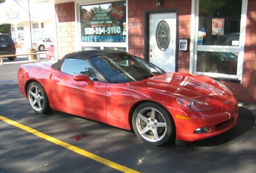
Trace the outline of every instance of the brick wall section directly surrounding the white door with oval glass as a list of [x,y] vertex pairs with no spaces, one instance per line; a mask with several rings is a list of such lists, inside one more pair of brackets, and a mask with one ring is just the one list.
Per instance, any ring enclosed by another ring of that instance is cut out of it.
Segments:
[[[190,38],[191,0],[128,0],[129,53],[144,58],[144,11],[179,8],[179,38]],[[178,51],[178,72],[189,72],[189,51]]]

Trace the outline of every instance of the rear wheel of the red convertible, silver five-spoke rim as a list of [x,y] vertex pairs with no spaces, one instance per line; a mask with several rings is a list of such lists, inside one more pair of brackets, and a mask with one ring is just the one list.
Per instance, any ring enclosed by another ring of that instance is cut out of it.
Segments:
[[31,108],[36,113],[44,114],[51,110],[45,90],[39,82],[29,84],[27,88],[27,98]]

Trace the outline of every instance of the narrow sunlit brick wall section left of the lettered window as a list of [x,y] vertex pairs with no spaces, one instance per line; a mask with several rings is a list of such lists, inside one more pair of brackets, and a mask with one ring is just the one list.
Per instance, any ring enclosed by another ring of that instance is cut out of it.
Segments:
[[74,2],[55,4],[58,58],[76,51]]

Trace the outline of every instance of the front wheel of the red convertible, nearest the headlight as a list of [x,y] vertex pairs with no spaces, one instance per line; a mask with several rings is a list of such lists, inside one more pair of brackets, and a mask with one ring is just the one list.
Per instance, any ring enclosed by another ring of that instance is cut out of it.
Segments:
[[157,103],[145,102],[132,115],[132,127],[144,143],[160,146],[174,137],[175,125],[169,111]]

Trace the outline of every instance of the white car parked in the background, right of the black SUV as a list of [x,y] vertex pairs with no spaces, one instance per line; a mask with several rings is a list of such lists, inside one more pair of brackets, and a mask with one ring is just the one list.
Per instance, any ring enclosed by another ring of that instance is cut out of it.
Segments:
[[32,42],[33,48],[38,49],[39,51],[43,51],[45,49],[48,49],[53,44],[54,44],[54,39],[49,38],[49,37],[36,38]]

